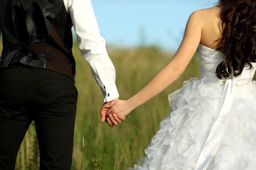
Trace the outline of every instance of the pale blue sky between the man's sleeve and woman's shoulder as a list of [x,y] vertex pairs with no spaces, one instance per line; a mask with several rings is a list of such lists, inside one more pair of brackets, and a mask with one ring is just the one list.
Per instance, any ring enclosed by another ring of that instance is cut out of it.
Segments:
[[92,0],[107,45],[177,50],[188,17],[217,0]]

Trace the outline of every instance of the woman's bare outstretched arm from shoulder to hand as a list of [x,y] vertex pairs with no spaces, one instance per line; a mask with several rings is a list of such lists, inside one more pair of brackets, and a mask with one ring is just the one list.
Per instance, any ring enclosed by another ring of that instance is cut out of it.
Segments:
[[200,16],[200,11],[196,11],[189,17],[183,40],[171,62],[137,94],[127,101],[118,101],[108,110],[107,114],[117,113],[125,116],[177,80],[188,66],[200,42],[202,30]]

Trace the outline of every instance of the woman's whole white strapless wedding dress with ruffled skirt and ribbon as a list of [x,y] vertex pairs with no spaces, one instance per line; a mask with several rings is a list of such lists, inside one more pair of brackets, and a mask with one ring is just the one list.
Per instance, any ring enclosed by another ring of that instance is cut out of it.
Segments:
[[169,95],[172,112],[135,170],[256,170],[256,63],[219,80],[224,54],[200,44],[199,57],[201,80]]

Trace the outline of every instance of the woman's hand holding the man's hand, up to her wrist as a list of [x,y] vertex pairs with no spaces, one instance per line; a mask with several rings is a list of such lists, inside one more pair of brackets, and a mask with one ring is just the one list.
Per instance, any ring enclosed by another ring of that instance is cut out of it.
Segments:
[[117,114],[119,117],[128,115],[134,108],[129,101],[119,100],[112,107],[109,107],[107,115]]

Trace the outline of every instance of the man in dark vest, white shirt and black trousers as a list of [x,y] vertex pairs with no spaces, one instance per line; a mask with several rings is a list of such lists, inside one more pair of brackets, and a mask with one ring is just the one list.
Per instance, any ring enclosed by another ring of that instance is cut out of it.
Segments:
[[[35,121],[40,170],[70,170],[76,115],[74,26],[104,102],[118,101],[115,68],[91,0],[0,0],[0,170],[14,170]],[[101,121],[118,118],[101,112]]]

